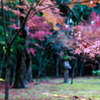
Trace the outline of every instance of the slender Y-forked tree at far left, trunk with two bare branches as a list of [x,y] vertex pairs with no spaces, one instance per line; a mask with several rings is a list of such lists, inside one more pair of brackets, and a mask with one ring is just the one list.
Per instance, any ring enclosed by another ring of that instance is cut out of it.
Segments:
[[[3,28],[4,28],[4,36],[5,36],[5,41],[6,41],[6,45],[7,45],[7,68],[6,68],[6,79],[5,79],[5,100],[9,99],[9,75],[10,75],[10,56],[11,56],[11,52],[10,52],[10,48],[12,43],[14,42],[14,40],[16,39],[17,35],[19,34],[19,32],[21,31],[21,29],[23,28],[23,26],[25,25],[25,22],[27,20],[28,15],[30,14],[31,10],[32,10],[32,6],[33,6],[34,0],[30,6],[30,9],[28,11],[28,13],[26,14],[24,21],[22,23],[22,25],[20,26],[20,28],[18,29],[18,31],[16,32],[16,34],[14,35],[14,37],[11,39],[11,36],[9,37],[10,39],[7,38],[6,35],[6,25],[5,25],[5,11],[4,11],[4,2],[3,0],[1,0],[1,8],[2,8],[2,18],[3,18]],[[9,11],[9,8],[7,8],[6,10]],[[11,10],[11,9],[10,9]]]

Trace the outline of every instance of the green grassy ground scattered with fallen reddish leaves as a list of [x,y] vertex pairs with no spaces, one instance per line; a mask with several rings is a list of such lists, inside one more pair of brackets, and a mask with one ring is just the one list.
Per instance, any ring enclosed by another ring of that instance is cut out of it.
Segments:
[[[75,78],[72,85],[63,83],[63,79],[44,80],[37,85],[27,84],[25,89],[10,88],[9,94],[9,100],[100,100],[100,79]],[[0,100],[4,100],[3,86]]]

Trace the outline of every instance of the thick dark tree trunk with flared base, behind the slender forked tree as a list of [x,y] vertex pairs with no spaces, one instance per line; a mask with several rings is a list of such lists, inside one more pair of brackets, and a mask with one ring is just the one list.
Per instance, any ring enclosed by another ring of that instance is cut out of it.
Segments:
[[[19,0],[20,5],[25,5],[25,0]],[[25,14],[24,9],[20,9],[20,12]],[[20,16],[20,25],[22,25],[24,20],[23,16]],[[16,75],[15,75],[15,83],[14,88],[25,88],[25,83],[27,81],[27,70],[25,63],[25,44],[26,44],[26,30],[25,25],[21,29],[21,40],[18,44],[17,48],[17,66],[16,66]]]

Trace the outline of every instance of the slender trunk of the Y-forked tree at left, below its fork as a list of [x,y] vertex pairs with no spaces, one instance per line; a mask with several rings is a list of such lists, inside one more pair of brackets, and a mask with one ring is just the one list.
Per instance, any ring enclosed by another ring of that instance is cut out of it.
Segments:
[[10,46],[7,46],[7,68],[5,77],[5,100],[9,99],[9,76],[10,76]]

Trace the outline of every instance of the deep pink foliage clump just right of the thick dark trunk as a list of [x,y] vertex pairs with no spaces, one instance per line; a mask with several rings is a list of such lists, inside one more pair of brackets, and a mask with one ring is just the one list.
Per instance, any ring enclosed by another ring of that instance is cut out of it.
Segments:
[[31,32],[28,32],[31,39],[36,38],[44,41],[45,36],[48,37],[52,35],[52,32],[50,32],[51,25],[45,23],[45,20],[44,17],[34,16],[27,22],[27,27],[31,30]]

